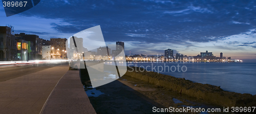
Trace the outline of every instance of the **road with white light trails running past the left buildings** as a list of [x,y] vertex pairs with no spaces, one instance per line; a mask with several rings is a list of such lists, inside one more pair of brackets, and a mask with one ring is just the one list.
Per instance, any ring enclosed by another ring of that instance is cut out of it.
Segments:
[[63,64],[63,62],[48,62],[31,65],[0,67],[0,82],[35,73],[38,71],[46,70],[51,67],[58,66],[60,64]]

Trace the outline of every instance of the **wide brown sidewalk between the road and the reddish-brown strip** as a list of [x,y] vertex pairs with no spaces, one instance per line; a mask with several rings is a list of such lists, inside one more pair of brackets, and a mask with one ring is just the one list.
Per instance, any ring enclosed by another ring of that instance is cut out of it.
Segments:
[[[69,66],[62,64],[0,82],[0,113],[40,113],[52,90],[68,70]],[[71,87],[72,84],[61,86]]]

